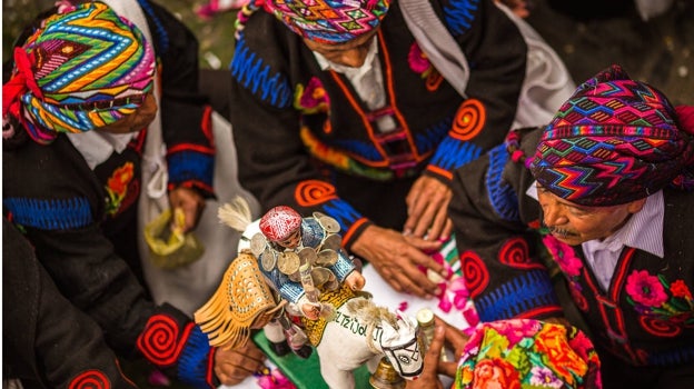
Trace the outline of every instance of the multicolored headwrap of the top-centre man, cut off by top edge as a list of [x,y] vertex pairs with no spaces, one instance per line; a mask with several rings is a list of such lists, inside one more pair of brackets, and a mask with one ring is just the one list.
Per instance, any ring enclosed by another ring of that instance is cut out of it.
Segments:
[[374,30],[389,0],[265,0],[266,11],[317,43],[339,44]]

